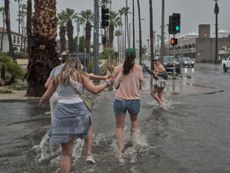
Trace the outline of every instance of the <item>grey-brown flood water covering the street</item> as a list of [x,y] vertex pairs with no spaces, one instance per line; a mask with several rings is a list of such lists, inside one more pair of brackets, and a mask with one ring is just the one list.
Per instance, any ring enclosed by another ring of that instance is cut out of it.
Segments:
[[[220,67],[211,64],[197,64],[195,69],[186,70],[192,78],[181,81],[184,93],[180,93],[180,87],[176,87],[176,95],[168,92],[165,109],[153,101],[148,87],[142,90],[138,145],[125,150],[124,163],[116,155],[114,94],[104,91],[96,96],[92,113],[96,164],[85,162],[84,142],[78,140],[72,172],[229,173],[230,72],[223,73]],[[166,91],[173,90],[171,82],[168,81]],[[194,91],[200,92],[186,92],[188,85],[194,85]],[[205,88],[212,87],[217,88],[215,92],[205,92]],[[40,109],[37,103],[0,102],[1,173],[59,172],[55,152],[52,158],[41,162],[47,154],[41,150],[46,151],[48,146],[40,142],[49,128],[50,116],[48,106]]]

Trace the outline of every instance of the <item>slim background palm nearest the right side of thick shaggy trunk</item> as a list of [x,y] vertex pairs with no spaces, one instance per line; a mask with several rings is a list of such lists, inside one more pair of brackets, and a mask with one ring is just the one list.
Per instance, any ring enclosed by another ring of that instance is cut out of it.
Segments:
[[60,36],[60,46],[61,46],[61,52],[66,50],[66,14],[65,11],[62,10],[60,13],[58,13],[58,24],[60,25],[59,27],[59,36]]

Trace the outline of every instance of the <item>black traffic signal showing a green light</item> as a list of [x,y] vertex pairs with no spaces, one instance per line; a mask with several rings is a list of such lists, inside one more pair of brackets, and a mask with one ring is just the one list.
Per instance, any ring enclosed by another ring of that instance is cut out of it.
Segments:
[[177,34],[180,33],[180,13],[173,13],[172,15],[169,16],[169,27],[168,27],[168,32],[169,34]]

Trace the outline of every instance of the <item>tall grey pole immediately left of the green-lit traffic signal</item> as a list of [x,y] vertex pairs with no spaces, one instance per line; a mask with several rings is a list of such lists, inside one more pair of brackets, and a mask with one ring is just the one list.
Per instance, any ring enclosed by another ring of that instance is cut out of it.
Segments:
[[165,55],[164,28],[165,28],[165,0],[162,0],[161,11],[161,57]]

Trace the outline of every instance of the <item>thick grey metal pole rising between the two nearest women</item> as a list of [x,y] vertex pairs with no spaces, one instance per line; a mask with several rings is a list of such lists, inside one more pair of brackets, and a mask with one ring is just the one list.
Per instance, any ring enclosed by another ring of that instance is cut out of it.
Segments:
[[94,74],[99,74],[99,0],[94,0],[94,31],[93,31],[93,67]]

